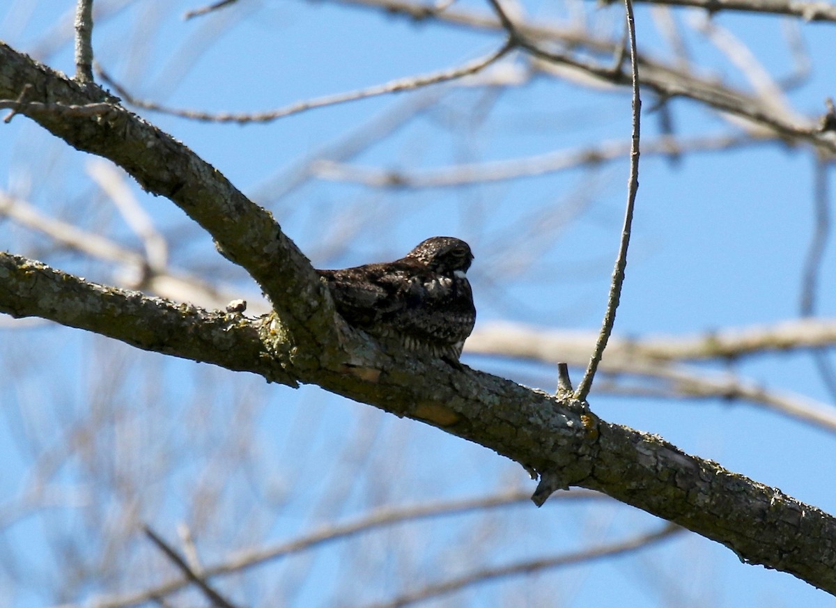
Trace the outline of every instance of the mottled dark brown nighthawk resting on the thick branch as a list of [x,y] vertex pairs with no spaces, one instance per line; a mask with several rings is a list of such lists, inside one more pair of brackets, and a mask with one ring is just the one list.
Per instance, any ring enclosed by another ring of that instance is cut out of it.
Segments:
[[476,322],[465,275],[472,260],[465,241],[433,236],[400,260],[317,272],[352,327],[382,342],[456,361]]

